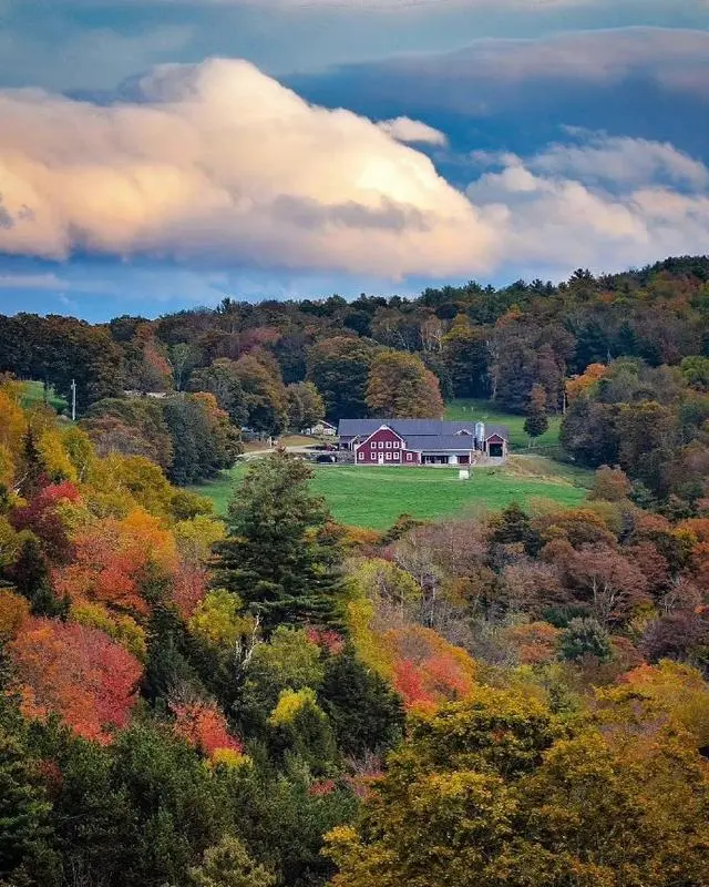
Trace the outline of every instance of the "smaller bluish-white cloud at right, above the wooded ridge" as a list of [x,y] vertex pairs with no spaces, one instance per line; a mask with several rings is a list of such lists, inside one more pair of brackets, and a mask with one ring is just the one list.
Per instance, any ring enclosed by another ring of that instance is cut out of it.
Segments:
[[608,271],[706,252],[709,170],[671,145],[596,134],[497,160],[503,169],[481,175],[467,195],[507,262]]

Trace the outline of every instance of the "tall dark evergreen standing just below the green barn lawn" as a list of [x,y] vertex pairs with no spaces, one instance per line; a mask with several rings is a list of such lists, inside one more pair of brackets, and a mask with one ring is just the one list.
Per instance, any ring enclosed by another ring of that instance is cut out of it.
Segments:
[[270,632],[280,623],[336,621],[338,546],[330,516],[310,495],[304,461],[276,452],[249,469],[217,546],[215,584],[238,594]]

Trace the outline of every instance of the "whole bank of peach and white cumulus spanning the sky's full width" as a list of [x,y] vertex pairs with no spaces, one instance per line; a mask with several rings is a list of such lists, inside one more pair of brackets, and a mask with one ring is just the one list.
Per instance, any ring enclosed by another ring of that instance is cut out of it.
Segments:
[[530,155],[477,151],[463,192],[400,141],[438,156],[441,133],[308,104],[247,62],[161,67],[132,94],[0,93],[0,252],[400,281],[561,277],[709,243],[709,170],[669,142],[568,130]]

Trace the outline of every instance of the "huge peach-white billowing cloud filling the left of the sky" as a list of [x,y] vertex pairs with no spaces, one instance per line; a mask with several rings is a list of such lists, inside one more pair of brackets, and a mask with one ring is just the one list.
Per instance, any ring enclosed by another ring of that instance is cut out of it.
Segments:
[[138,89],[110,106],[0,93],[0,249],[391,278],[490,267],[472,204],[371,121],[242,61],[164,65]]

